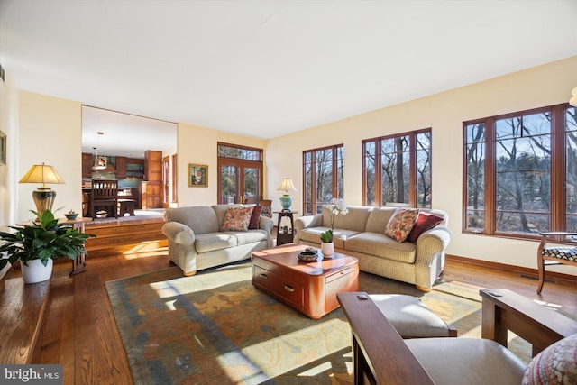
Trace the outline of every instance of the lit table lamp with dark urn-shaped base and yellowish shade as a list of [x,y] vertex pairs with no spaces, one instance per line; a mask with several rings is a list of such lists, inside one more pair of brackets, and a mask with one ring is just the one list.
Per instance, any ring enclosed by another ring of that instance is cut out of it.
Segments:
[[46,186],[46,183],[62,184],[64,180],[59,173],[52,166],[47,166],[44,163],[35,164],[28,172],[20,179],[19,183],[41,183],[41,187],[32,191],[32,198],[36,204],[36,212],[39,216],[44,214],[46,210],[52,210],[54,199],[56,198],[56,191]]

